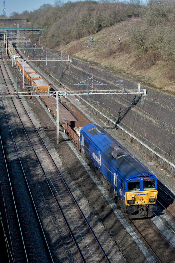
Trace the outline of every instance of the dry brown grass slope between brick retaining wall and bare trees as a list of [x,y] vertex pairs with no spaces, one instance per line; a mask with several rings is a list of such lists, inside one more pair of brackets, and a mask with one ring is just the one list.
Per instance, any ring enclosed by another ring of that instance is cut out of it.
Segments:
[[[146,59],[136,59],[135,54],[127,48],[128,30],[138,21],[139,18],[132,18],[103,28],[92,35],[92,41],[89,40],[90,36],[84,37],[66,46],[59,46],[59,50],[62,49],[64,54],[69,54],[75,59],[87,62],[93,67],[113,75],[141,83],[141,85],[169,95],[175,95],[175,81],[168,80],[166,63],[157,61],[155,65],[148,67]],[[120,44],[118,44],[119,39],[121,40]],[[87,48],[87,44],[89,44],[89,48]]]

